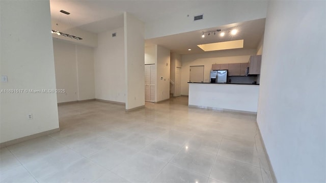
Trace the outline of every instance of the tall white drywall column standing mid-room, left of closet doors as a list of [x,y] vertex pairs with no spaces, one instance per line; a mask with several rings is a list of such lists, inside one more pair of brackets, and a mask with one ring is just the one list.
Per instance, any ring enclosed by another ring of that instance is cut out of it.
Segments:
[[124,13],[126,110],[145,105],[144,23]]

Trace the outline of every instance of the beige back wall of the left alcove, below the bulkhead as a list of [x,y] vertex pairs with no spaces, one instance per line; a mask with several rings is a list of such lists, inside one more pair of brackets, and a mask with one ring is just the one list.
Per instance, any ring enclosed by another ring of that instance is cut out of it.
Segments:
[[58,103],[95,98],[93,48],[53,39]]

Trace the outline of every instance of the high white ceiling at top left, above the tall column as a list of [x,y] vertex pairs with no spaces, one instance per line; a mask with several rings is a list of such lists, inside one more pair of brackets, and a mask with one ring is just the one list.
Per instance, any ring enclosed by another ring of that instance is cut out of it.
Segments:
[[[203,3],[205,6],[203,6]],[[61,19],[69,24],[60,10],[69,13],[71,23],[92,33],[100,33],[123,26],[123,12],[128,12],[143,22],[151,22],[171,14],[202,13],[206,6],[218,1],[171,1],[171,0],[50,0],[52,20]],[[216,5],[215,5],[216,6]],[[122,20],[122,21],[119,21]],[[105,29],[108,28],[108,29]]]

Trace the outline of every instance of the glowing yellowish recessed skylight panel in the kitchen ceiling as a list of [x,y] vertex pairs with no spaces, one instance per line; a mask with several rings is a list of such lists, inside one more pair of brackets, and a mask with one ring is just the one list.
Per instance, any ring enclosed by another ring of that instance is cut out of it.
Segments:
[[219,43],[209,43],[197,45],[204,51],[218,51],[227,49],[243,48],[243,40],[225,41]]

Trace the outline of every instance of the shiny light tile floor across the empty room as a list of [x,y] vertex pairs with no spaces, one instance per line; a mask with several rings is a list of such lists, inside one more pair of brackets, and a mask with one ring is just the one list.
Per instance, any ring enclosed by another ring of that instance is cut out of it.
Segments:
[[271,182],[256,116],[189,108],[59,106],[60,132],[1,148],[1,182]]

